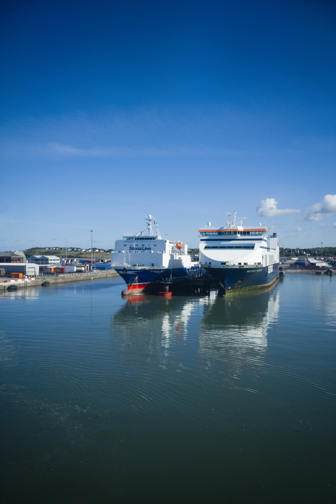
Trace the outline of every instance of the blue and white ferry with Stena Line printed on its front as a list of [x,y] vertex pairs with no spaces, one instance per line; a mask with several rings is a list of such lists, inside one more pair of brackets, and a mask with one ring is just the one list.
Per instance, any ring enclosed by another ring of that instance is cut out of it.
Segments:
[[127,284],[124,295],[160,291],[163,284],[173,286],[201,273],[199,262],[192,262],[188,256],[186,243],[162,238],[155,218],[148,215],[145,219],[144,231],[124,234],[115,241],[111,253],[111,267]]

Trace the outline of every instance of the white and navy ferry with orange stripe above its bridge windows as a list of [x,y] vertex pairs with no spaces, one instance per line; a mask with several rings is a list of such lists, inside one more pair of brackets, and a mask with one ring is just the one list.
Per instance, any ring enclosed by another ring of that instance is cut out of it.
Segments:
[[208,222],[198,231],[199,264],[219,282],[219,294],[266,287],[279,277],[277,233],[267,235],[266,226],[243,227],[238,220],[240,225],[234,211],[227,226],[213,228]]

